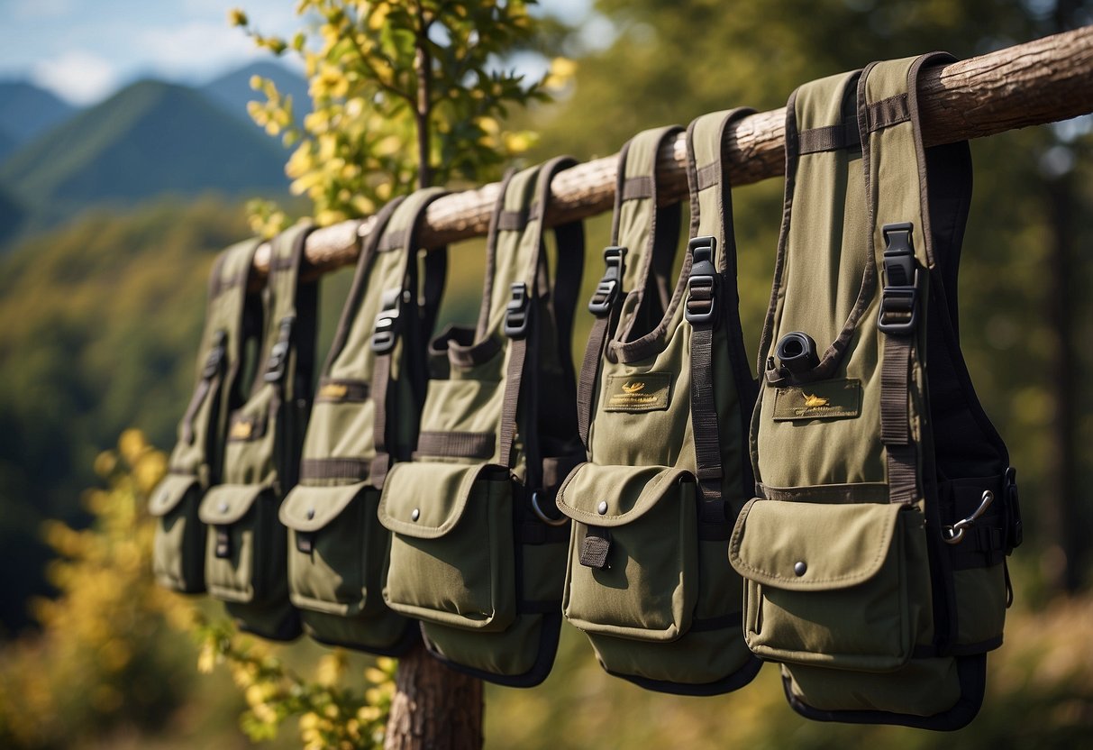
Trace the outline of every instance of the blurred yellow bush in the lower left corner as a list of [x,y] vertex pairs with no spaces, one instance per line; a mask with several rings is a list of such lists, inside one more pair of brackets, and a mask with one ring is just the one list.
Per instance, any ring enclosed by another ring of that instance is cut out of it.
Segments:
[[[59,559],[48,571],[58,596],[35,602],[42,632],[0,652],[5,748],[69,747],[73,738],[121,727],[155,731],[193,682],[186,677],[186,640],[168,628],[186,622],[189,608],[150,575],[144,507],[166,458],[128,431],[95,466],[108,489],[84,495],[94,524],[44,527]],[[164,680],[167,673],[179,677]]]

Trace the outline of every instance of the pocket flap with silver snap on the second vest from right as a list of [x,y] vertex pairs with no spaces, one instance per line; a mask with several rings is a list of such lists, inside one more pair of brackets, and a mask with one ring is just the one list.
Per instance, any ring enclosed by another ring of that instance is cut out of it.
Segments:
[[679,481],[693,481],[693,474],[662,466],[581,464],[557,491],[557,507],[589,526],[623,526],[640,518]]

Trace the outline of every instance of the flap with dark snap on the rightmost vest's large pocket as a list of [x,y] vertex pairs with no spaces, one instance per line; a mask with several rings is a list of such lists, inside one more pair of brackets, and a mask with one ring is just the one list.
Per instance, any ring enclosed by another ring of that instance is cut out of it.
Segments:
[[877,575],[888,556],[895,503],[789,503],[752,500],[729,541],[729,562],[745,578],[795,591],[848,588]]

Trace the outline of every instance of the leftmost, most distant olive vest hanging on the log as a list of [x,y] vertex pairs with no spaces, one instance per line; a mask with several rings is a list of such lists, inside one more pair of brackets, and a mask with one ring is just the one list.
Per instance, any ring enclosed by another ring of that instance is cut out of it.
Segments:
[[261,329],[261,298],[247,289],[260,242],[233,245],[213,263],[197,386],[178,424],[167,476],[149,502],[149,513],[156,523],[152,553],[155,579],[183,594],[205,590],[205,528],[198,519],[198,505],[205,490],[220,482],[227,415],[243,402],[239,385],[246,370],[247,342]]

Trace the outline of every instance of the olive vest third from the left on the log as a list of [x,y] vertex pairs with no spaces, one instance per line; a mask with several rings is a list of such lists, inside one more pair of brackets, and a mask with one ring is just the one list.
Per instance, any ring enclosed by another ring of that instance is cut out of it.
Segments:
[[317,641],[398,655],[416,623],[384,603],[390,532],[379,488],[408,460],[424,400],[426,342],[444,289],[447,253],[425,254],[418,230],[438,188],[396,199],[362,248],[322,371],[304,441],[299,484],[281,505],[289,528],[289,596]]

